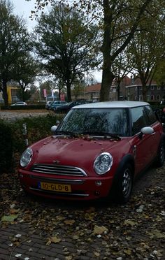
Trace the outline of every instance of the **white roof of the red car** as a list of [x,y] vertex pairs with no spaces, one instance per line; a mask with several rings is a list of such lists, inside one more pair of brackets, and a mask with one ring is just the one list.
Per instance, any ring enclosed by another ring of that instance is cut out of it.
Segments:
[[97,103],[87,103],[84,105],[74,106],[76,108],[135,108],[138,106],[148,106],[149,103],[142,101],[105,101]]

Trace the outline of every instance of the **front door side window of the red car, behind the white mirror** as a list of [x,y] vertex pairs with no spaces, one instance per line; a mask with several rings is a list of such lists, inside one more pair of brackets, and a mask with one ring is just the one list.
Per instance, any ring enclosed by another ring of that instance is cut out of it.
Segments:
[[131,124],[133,135],[140,132],[143,127],[147,126],[145,122],[145,111],[144,107],[131,108]]

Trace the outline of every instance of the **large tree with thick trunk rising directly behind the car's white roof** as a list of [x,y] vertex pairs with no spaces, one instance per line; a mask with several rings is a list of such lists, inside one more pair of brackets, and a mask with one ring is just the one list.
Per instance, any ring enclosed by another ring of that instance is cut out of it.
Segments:
[[[160,2],[162,0],[159,0]],[[45,6],[48,1],[36,1],[39,9]],[[57,2],[65,2],[57,1]],[[101,82],[101,101],[109,99],[109,88],[113,81],[114,74],[112,65],[116,57],[129,45],[134,33],[138,28],[139,22],[145,20],[146,15],[152,17],[150,13],[151,3],[157,5],[157,0],[136,1],[116,1],[116,0],[81,0],[73,1],[76,10],[84,11],[89,14],[93,20],[101,26],[103,31],[103,39],[101,44],[101,52],[103,56],[102,66],[102,82]],[[116,45],[116,41],[120,41],[120,45]]]

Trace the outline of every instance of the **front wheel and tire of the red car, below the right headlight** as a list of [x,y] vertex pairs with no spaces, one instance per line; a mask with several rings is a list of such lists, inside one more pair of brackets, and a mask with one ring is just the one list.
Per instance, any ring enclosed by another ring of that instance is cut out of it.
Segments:
[[112,191],[113,201],[117,203],[127,203],[131,197],[133,187],[133,176],[134,172],[130,164],[125,164],[119,174],[115,176]]

